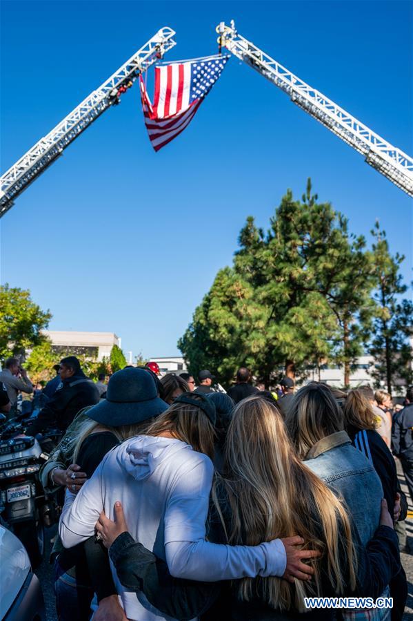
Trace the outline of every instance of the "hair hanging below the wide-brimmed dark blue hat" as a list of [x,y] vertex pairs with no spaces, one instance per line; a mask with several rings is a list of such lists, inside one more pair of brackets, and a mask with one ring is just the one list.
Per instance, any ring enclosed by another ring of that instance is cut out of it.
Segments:
[[[89,408],[88,408],[89,409]],[[85,417],[79,418],[79,423],[74,427],[73,435],[68,441],[67,459],[70,459],[73,464],[77,464],[77,458],[79,457],[79,451],[85,439],[90,434],[95,433],[97,428],[100,430],[110,431],[114,434],[119,442],[123,442],[128,438],[143,434],[146,432],[153,418],[143,421],[141,423],[135,423],[134,425],[121,425],[119,427],[102,425],[93,419],[88,418],[88,413],[84,410]]]

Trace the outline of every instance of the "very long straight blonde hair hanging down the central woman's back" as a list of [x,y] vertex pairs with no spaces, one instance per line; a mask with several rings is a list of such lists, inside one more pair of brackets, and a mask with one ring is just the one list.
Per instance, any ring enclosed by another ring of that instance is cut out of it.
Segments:
[[[336,593],[356,585],[356,556],[347,512],[339,499],[301,463],[292,448],[276,405],[248,397],[236,405],[228,429],[223,480],[232,523],[228,543],[255,546],[278,537],[300,535],[305,547],[320,551],[312,560],[312,582],[278,577],[243,578],[239,596],[254,596],[277,609],[305,611],[304,597],[321,595],[321,562],[326,563]],[[216,498],[216,488],[213,498]],[[347,562],[343,563],[343,556]]]

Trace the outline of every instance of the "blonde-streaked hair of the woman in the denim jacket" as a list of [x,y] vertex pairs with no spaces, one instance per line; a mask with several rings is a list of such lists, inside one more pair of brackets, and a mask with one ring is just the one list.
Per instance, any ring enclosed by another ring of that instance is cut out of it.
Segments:
[[316,442],[343,430],[343,412],[328,385],[310,382],[294,394],[285,425],[299,458],[305,459]]

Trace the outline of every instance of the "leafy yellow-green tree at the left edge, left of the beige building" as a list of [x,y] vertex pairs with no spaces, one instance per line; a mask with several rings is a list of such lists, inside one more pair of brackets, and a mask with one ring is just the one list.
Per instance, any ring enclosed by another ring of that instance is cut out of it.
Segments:
[[50,311],[42,311],[19,287],[0,285],[0,358],[2,360],[45,341],[41,331],[48,327]]

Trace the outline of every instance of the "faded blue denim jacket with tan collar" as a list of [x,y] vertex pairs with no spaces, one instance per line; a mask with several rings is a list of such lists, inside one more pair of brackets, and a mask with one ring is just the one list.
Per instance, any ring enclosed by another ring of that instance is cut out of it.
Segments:
[[365,546],[379,526],[383,488],[374,467],[352,446],[345,431],[322,438],[308,452],[305,466],[346,502]]

